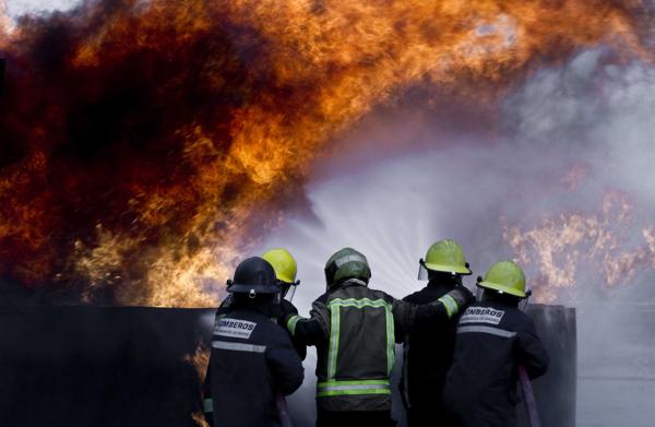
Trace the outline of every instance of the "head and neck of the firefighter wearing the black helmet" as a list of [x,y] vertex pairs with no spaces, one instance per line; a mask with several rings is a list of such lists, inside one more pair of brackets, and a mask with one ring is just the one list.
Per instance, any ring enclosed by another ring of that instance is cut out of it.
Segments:
[[273,266],[263,258],[252,257],[237,266],[233,280],[227,281],[227,292],[236,303],[260,305],[276,299],[281,288]]

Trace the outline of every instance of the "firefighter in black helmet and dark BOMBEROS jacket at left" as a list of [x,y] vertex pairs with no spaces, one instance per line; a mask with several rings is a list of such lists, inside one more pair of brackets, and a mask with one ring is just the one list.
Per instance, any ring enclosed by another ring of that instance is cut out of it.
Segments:
[[212,336],[214,425],[281,426],[276,394],[296,391],[303,370],[288,333],[272,320],[281,293],[275,271],[262,258],[249,258],[227,290],[234,299],[216,317]]

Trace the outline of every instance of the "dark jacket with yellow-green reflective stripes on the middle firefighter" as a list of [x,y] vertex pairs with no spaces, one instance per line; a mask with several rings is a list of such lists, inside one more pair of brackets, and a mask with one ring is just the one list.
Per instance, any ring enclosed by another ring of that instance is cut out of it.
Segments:
[[309,319],[290,317],[291,334],[317,346],[319,410],[390,411],[396,332],[402,337],[416,322],[446,320],[445,304],[415,306],[352,278],[318,298]]

